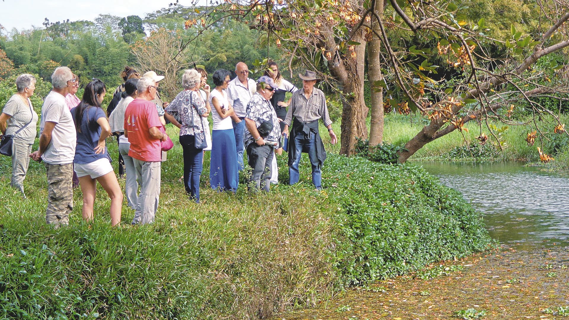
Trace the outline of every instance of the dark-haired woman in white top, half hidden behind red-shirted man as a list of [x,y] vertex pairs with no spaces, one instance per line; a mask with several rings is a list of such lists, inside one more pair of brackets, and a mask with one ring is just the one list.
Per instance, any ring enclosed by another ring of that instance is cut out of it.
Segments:
[[121,93],[122,99],[118,102],[113,113],[109,116],[111,132],[118,135],[118,151],[122,155],[126,167],[125,194],[129,207],[136,210],[138,202],[137,173],[134,169],[133,158],[129,155],[130,142],[125,137],[125,110],[126,107],[138,96],[138,79],[131,78],[123,84],[125,90]]

